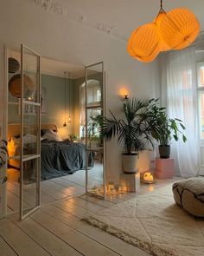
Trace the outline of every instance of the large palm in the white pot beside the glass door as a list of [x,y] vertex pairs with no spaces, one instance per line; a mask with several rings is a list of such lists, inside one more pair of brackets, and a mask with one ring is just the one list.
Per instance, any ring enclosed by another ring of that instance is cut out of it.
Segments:
[[137,157],[145,149],[146,142],[151,142],[149,100],[131,98],[124,102],[124,118],[118,119],[112,114],[104,118],[102,135],[110,140],[118,137],[118,144],[123,149],[122,165],[126,174],[137,172]]

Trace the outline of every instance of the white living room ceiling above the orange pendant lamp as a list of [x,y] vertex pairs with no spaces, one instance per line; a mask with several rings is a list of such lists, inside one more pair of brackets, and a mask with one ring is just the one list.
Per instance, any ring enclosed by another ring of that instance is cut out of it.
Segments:
[[[152,21],[160,9],[160,0],[61,0],[68,10],[123,31],[129,36],[131,30]],[[194,12],[204,30],[203,0],[163,0],[163,9],[168,11],[186,7]]]

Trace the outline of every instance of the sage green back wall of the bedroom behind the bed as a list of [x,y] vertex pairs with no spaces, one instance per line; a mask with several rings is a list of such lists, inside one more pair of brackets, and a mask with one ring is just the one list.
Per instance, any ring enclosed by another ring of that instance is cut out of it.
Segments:
[[[43,95],[43,101],[45,108],[41,114],[41,123],[54,123],[59,129],[61,137],[66,138],[68,134],[73,133],[74,123],[74,81],[67,79],[67,122],[69,116],[69,110],[71,115],[71,123],[67,125],[67,128],[63,128],[65,121],[65,80],[63,77],[54,75],[41,75],[41,94]],[[70,88],[69,88],[70,87]],[[70,93],[70,96],[69,96]],[[17,99],[10,95],[9,101],[17,102]],[[69,103],[70,101],[70,103]],[[70,107],[70,109],[69,109]],[[18,105],[9,105],[9,123],[19,123],[20,115]],[[43,110],[43,108],[42,108]]]

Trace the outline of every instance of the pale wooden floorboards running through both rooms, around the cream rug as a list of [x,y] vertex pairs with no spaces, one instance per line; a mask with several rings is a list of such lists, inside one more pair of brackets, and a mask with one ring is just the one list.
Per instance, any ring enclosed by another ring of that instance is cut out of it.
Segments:
[[[131,246],[109,233],[88,225],[82,219],[125,200],[151,193],[179,178],[161,180],[153,186],[142,185],[135,194],[108,195],[106,200],[101,200],[84,194],[84,171],[74,175],[41,182],[42,207],[25,220],[19,221],[17,213],[0,220],[0,255],[150,255],[136,246]],[[100,174],[98,179],[97,174],[92,172],[92,177],[98,182]],[[8,186],[10,212],[18,207],[19,199],[16,195],[18,191],[19,184],[10,181]],[[24,203],[30,204],[34,195],[34,190],[26,190]]]

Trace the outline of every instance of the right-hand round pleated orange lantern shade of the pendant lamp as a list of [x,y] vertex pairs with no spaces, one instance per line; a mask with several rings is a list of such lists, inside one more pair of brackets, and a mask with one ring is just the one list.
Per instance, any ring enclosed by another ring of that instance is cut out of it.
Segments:
[[160,24],[163,41],[171,49],[183,49],[193,43],[200,31],[194,13],[186,8],[170,10]]

